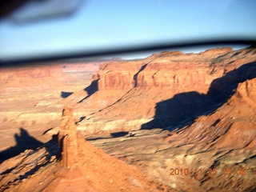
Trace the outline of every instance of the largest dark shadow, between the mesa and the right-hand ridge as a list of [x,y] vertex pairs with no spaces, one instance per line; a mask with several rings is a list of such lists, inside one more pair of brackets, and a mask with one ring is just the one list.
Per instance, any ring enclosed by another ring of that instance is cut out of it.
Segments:
[[191,91],[176,94],[173,98],[158,102],[155,106],[154,119],[142,124],[141,129],[174,130],[190,126],[199,116],[212,114],[227,102],[234,94],[238,83],[255,77],[256,62],[246,63],[226,73],[222,78],[214,79],[207,94]]

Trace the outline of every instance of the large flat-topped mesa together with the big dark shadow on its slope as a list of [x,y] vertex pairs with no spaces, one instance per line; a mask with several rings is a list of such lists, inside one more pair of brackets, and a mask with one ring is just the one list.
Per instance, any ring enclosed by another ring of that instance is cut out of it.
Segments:
[[[94,74],[98,90],[63,100],[74,106],[85,134],[173,129],[211,114],[254,78],[256,50],[216,49],[200,54],[163,52],[137,61],[106,62]],[[89,89],[90,87],[88,87]],[[88,95],[88,94],[86,94]],[[83,110],[86,109],[86,110]]]

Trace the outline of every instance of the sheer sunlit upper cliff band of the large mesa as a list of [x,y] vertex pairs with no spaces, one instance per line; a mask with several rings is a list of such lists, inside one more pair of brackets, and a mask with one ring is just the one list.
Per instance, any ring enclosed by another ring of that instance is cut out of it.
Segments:
[[99,90],[160,87],[182,91],[182,88],[190,87],[206,93],[214,78],[254,61],[254,52],[233,51],[231,48],[207,50],[200,54],[166,51],[140,61],[103,64],[94,78],[98,78]]

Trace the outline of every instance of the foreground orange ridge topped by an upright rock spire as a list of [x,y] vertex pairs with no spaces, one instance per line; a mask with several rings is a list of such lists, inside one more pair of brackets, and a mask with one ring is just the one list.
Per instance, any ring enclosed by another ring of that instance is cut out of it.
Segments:
[[[58,154],[54,141],[2,163],[0,190],[174,191],[168,186],[151,182],[134,167],[86,142],[77,134],[70,107],[63,110],[58,142],[62,146],[60,163],[55,156]],[[12,170],[11,173],[9,170]]]

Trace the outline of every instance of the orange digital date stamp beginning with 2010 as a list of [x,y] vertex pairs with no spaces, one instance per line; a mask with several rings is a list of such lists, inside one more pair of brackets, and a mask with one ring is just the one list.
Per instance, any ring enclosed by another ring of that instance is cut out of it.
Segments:
[[217,174],[224,174],[224,175],[245,175],[246,170],[244,168],[238,168],[235,170],[232,170],[231,168],[224,168],[219,169],[217,168],[209,168],[208,170],[202,170],[200,169],[189,169],[189,168],[170,168],[170,175],[217,175]]

